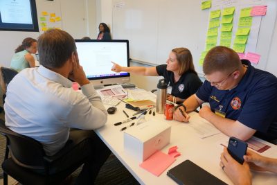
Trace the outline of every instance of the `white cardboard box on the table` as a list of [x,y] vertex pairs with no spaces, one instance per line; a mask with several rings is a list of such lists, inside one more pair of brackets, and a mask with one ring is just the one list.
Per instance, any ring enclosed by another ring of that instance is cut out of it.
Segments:
[[124,132],[124,150],[140,162],[170,143],[168,123],[147,121]]

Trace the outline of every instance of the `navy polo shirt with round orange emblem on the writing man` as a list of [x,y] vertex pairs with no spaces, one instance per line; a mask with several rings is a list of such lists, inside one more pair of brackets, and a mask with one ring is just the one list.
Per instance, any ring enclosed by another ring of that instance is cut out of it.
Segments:
[[269,125],[277,121],[277,78],[267,71],[255,69],[248,60],[242,60],[242,64],[248,67],[237,87],[219,90],[206,80],[196,95],[210,103],[213,112],[222,107],[226,118],[266,133]]

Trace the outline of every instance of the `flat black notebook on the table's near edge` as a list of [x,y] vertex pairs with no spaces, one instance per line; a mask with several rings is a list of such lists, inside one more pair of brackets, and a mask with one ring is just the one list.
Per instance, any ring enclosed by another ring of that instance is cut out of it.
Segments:
[[167,175],[171,177],[177,184],[201,185],[201,184],[226,184],[217,177],[211,175],[203,168],[200,168],[190,160],[186,160],[181,164],[168,170]]

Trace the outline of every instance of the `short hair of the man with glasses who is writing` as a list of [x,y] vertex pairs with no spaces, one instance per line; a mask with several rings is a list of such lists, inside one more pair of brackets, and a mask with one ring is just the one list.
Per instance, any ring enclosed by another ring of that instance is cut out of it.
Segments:
[[207,75],[216,71],[231,73],[240,69],[241,66],[238,53],[225,46],[215,46],[208,51],[203,62],[203,72]]

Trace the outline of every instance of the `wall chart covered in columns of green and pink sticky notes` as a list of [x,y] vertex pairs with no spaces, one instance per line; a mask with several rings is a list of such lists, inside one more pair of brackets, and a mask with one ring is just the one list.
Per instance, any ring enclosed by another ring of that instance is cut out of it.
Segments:
[[[238,53],[240,59],[258,64],[260,53],[256,46],[262,17],[267,16],[267,5],[255,0],[213,0],[202,1],[202,10],[210,10],[206,32],[206,53],[214,46],[226,46]],[[274,24],[274,23],[273,23]]]

